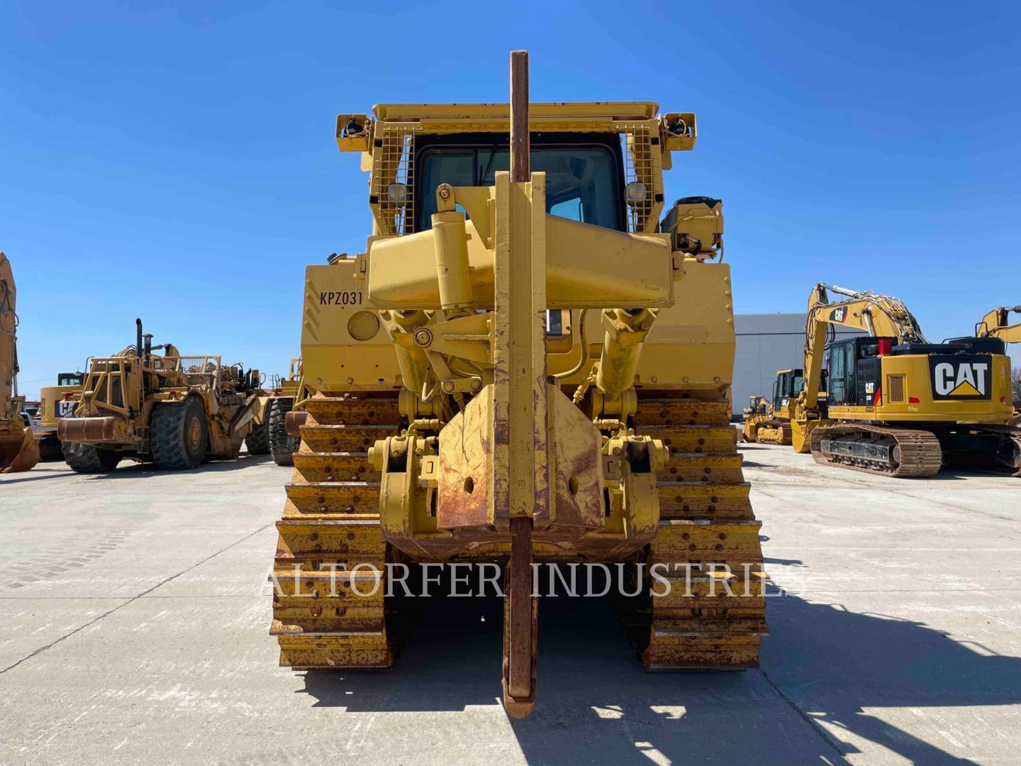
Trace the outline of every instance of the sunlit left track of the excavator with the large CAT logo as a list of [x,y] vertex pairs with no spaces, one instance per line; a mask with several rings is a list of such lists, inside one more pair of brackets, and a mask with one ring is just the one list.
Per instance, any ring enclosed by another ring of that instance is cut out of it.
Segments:
[[823,466],[894,478],[935,476],[943,460],[931,431],[869,425],[817,427],[812,457]]

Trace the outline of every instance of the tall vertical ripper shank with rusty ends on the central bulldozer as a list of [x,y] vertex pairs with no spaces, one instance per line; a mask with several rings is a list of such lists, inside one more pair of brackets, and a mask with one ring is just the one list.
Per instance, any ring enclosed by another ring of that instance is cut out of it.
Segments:
[[[528,53],[510,53],[510,174],[497,180],[496,343],[493,430],[505,466],[496,469],[495,506],[510,532],[503,613],[503,705],[526,716],[535,704],[536,599],[532,595],[533,516],[549,505],[545,332],[545,185],[529,158]],[[502,199],[501,199],[502,198]],[[501,203],[502,202],[502,203]],[[536,209],[535,203],[539,209]],[[541,305],[540,305],[541,304]],[[497,458],[496,463],[502,461]]]

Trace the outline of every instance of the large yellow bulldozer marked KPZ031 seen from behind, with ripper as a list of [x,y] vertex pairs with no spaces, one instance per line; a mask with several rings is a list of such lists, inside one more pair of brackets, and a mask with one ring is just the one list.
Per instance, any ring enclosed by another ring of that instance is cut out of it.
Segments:
[[[510,71],[509,104],[338,116],[373,229],[305,272],[272,633],[283,666],[387,669],[388,565],[496,562],[503,703],[524,716],[533,562],[634,567],[648,670],[756,667],[766,620],[722,202],[665,203],[695,116],[530,104],[524,52]],[[692,570],[687,597],[667,587]]]

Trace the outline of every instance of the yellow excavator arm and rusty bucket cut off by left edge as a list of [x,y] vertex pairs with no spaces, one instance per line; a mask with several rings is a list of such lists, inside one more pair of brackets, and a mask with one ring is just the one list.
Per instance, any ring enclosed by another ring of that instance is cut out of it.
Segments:
[[28,471],[39,445],[17,393],[17,290],[10,260],[0,252],[0,473]]

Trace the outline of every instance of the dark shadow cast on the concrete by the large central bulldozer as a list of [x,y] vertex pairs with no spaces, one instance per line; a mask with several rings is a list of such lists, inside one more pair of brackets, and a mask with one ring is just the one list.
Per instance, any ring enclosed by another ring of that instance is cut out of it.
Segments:
[[[393,673],[307,672],[317,706],[461,711],[500,695],[502,603],[419,599]],[[813,720],[912,762],[970,763],[865,708],[1021,703],[1021,659],[989,656],[922,623],[795,595],[770,603],[762,669],[650,674],[604,599],[540,600],[538,702],[509,719],[533,763],[842,763],[858,752]],[[808,711],[811,711],[809,713]],[[641,756],[642,758],[639,758]]]

